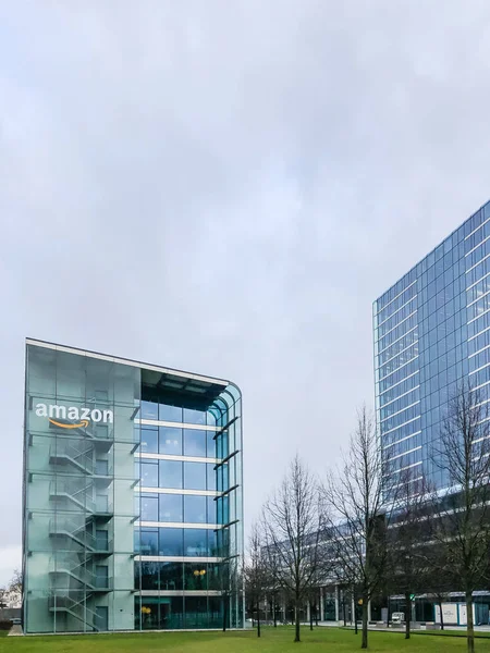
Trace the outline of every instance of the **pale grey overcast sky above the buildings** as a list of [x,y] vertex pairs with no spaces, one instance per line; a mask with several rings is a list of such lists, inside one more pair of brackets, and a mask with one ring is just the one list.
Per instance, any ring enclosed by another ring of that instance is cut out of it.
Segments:
[[490,198],[488,0],[0,1],[0,583],[24,338],[235,381],[247,522],[373,395],[371,304]]

